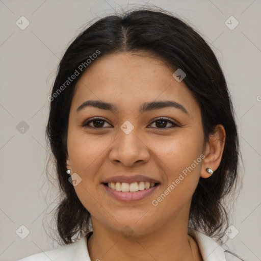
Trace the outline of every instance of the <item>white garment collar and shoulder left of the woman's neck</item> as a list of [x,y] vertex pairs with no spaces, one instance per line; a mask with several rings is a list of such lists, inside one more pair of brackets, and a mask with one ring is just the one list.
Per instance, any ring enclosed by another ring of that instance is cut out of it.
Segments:
[[64,245],[56,249],[33,254],[19,259],[18,261],[89,261],[90,259],[88,258],[89,254],[87,250],[87,238],[85,236],[77,242]]

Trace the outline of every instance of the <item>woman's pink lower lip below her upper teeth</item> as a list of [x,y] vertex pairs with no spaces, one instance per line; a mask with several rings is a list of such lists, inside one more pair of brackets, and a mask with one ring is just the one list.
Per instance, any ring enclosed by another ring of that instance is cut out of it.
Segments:
[[158,187],[160,187],[160,184],[158,184],[150,189],[139,190],[136,192],[122,192],[122,191],[113,190],[104,184],[101,184],[101,185],[103,186],[103,188],[106,189],[106,191],[111,196],[113,196],[114,198],[116,198],[122,202],[135,202],[135,201],[144,199],[144,198],[150,196],[153,192],[155,192],[158,189]]

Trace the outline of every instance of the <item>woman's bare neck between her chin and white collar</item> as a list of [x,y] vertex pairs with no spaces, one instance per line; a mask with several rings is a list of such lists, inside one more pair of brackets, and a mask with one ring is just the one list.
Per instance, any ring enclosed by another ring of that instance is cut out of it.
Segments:
[[93,234],[88,241],[91,260],[200,261],[197,243],[188,236],[188,224],[165,224],[150,233],[124,237],[92,218]]

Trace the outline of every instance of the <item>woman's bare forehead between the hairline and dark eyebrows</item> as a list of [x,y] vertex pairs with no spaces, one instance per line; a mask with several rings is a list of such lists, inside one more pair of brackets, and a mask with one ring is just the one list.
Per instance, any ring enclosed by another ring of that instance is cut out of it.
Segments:
[[94,61],[75,86],[72,107],[88,99],[138,108],[152,100],[175,100],[188,111],[199,106],[184,82],[162,60],[131,53],[111,54]]

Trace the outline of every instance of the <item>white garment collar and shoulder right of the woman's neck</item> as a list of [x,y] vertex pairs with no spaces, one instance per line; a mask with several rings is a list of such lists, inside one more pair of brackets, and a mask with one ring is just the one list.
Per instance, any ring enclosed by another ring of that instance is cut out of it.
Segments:
[[236,254],[220,246],[213,238],[194,229],[189,229],[189,234],[198,244],[200,253],[205,261],[242,261]]

